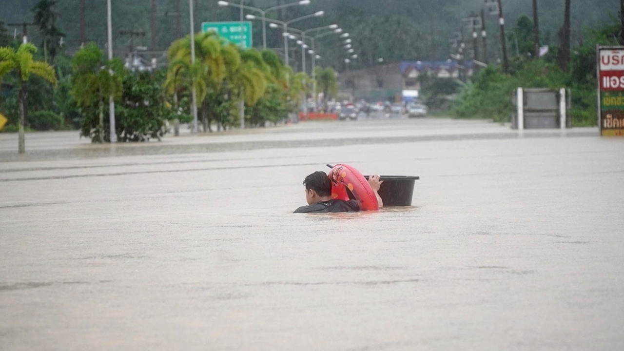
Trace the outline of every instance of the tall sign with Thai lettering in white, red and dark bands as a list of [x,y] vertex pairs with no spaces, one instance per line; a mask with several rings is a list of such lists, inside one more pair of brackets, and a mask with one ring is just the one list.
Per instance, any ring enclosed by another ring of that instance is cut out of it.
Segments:
[[624,47],[598,46],[598,125],[602,136],[624,136]]

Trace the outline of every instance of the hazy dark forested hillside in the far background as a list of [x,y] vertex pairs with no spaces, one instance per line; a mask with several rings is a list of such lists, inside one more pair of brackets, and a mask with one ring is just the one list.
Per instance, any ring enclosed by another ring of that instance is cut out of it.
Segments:
[[[240,3],[240,0],[232,0]],[[9,34],[21,36],[21,27],[8,23],[32,22],[31,8],[37,0],[0,0],[0,21]],[[295,0],[251,0],[245,4],[253,7],[270,7]],[[104,47],[106,42],[106,1],[85,0],[85,37]],[[188,28],[188,0],[112,0],[115,54],[125,56],[130,45],[152,49],[151,10],[155,3],[155,51],[165,51],[178,36],[186,35]],[[180,32],[177,27],[177,6],[180,4]],[[240,10],[220,7],[217,0],[195,0],[195,30],[203,21],[238,21]],[[557,46],[558,31],[563,24],[564,0],[539,0],[539,25],[542,44]],[[57,22],[66,34],[66,52],[72,53],[80,46],[80,0],[59,0]],[[354,66],[375,64],[379,57],[384,62],[401,60],[447,59],[449,37],[461,30],[462,18],[471,12],[479,13],[484,0],[311,0],[308,6],[293,6],[286,11],[268,14],[276,19],[292,19],[318,10],[326,15],[297,22],[293,27],[307,29],[332,23],[351,34],[354,53],[359,59]],[[502,0],[507,30],[511,31],[522,14],[532,18],[531,0]],[[572,45],[582,44],[588,27],[603,26],[615,21],[618,0],[573,0]],[[253,13],[245,11],[246,14]],[[488,16],[488,46],[490,56],[499,57],[499,26],[497,18]],[[262,44],[261,22],[253,21],[254,45]],[[28,27],[29,39],[39,44],[37,28]],[[134,31],[135,35],[124,34]],[[268,46],[281,48],[281,32],[267,29]],[[469,35],[469,33],[468,33]],[[513,42],[508,46],[513,47]],[[342,68],[346,53],[338,36],[328,36],[319,41],[317,51],[323,56],[321,64]],[[510,49],[513,52],[513,49]],[[300,51],[299,51],[300,52]],[[292,57],[300,57],[293,52]]]

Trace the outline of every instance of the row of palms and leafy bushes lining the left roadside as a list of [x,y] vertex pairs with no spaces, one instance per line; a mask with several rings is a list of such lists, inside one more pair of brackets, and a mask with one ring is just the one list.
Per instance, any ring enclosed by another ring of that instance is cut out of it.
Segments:
[[[87,43],[72,56],[63,52],[55,1],[32,9],[44,38],[37,48],[9,36],[0,22],[0,112],[9,120],[3,132],[78,129],[92,142],[110,141],[109,96],[115,101],[115,127],[122,142],[158,139],[192,122],[191,87],[197,92],[200,131],[263,127],[285,121],[299,110],[315,83],[295,74],[274,51],[241,49],[212,33],[172,42],[166,69],[130,71]],[[335,72],[317,67],[318,92],[335,94]],[[326,96],[328,96],[326,95]]]

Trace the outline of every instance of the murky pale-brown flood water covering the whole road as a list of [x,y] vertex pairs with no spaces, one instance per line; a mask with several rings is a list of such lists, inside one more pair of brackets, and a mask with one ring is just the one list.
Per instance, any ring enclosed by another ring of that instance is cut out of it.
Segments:
[[[0,134],[1,350],[623,350],[624,141],[308,122]],[[327,163],[412,207],[291,214]]]

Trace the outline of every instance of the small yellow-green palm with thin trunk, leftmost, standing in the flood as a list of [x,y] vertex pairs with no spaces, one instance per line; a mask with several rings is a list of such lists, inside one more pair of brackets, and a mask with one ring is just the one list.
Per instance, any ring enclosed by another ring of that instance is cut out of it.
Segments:
[[32,75],[40,76],[46,81],[56,84],[54,68],[43,61],[34,61],[32,54],[37,47],[30,43],[21,44],[17,50],[12,47],[0,47],[0,78],[15,71],[20,80],[19,85],[19,136],[17,152],[26,152],[24,139],[24,123],[26,121],[26,101],[28,99],[27,83]]

